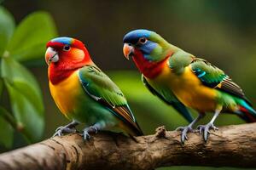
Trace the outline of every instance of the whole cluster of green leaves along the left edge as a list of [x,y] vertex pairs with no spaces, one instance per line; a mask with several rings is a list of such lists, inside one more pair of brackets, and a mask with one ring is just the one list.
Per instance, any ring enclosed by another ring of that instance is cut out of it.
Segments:
[[42,58],[45,42],[55,35],[55,24],[48,13],[29,14],[15,27],[13,16],[0,7],[0,144],[5,147],[12,146],[15,130],[27,142],[42,138],[42,93],[36,78],[20,61]]

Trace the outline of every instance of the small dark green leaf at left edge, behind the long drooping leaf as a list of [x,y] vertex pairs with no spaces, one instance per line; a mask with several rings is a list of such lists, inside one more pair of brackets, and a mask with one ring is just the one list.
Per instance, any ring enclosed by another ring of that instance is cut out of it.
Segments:
[[14,140],[14,128],[4,118],[6,114],[10,113],[0,107],[0,144],[3,144],[6,148],[11,148]]

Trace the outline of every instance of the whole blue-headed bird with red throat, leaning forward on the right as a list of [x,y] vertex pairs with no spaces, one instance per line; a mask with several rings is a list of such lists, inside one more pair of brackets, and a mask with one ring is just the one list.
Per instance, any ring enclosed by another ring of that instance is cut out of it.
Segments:
[[[177,127],[182,132],[182,143],[188,140],[187,133],[196,131],[207,142],[210,130],[218,130],[214,122],[222,112],[256,122],[256,111],[241,88],[206,59],[197,58],[145,29],[126,33],[123,43],[125,58],[132,58],[146,88],[189,122],[188,126]],[[188,109],[199,115],[194,119]],[[195,123],[207,112],[214,113],[212,120],[194,130]]]

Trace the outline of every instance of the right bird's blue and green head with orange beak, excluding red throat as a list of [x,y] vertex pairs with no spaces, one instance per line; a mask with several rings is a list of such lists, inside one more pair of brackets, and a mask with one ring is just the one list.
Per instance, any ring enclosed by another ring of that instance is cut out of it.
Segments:
[[126,59],[142,55],[150,62],[159,62],[172,54],[170,44],[154,31],[135,30],[128,32],[124,39],[123,52]]

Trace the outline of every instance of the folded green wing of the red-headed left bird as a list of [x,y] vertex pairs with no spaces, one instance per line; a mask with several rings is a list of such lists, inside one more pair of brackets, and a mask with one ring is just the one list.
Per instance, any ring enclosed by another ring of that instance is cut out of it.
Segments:
[[86,94],[125,122],[137,135],[143,135],[124,94],[117,85],[95,65],[85,65],[79,70],[79,80]]

